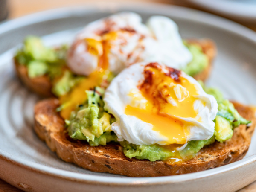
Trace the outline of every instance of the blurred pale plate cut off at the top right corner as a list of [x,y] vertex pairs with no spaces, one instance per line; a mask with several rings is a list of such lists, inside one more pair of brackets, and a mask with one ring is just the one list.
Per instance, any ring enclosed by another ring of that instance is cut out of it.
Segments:
[[238,20],[256,20],[255,0],[187,0],[209,11]]

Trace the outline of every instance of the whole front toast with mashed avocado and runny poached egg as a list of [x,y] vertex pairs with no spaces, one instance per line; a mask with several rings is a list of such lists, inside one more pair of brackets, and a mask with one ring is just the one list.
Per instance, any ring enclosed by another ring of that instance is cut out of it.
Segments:
[[35,132],[62,160],[95,172],[154,177],[223,166],[244,157],[255,128],[253,108],[158,63],[134,64],[86,94],[72,112],[58,99],[38,102]]

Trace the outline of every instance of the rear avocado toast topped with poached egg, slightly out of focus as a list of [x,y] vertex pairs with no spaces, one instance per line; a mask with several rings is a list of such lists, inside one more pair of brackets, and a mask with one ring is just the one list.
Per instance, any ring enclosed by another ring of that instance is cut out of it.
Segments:
[[39,38],[26,38],[15,55],[15,69],[30,90],[58,97],[99,68],[116,76],[140,61],[160,61],[205,81],[215,55],[211,40],[182,41],[176,23],[167,17],[153,16],[143,24],[139,15],[122,12],[89,23],[68,50],[45,47]]

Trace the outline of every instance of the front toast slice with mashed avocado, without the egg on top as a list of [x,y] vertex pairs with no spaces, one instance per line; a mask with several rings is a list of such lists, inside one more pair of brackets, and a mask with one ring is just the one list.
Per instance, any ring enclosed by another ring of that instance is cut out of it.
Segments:
[[[191,140],[185,145],[134,145],[118,141],[113,133],[118,116],[108,113],[102,101],[105,98],[107,102],[106,97],[99,88],[87,91],[87,101],[71,112],[70,119],[64,119],[58,112],[61,106],[58,99],[38,102],[35,132],[64,161],[91,171],[130,177],[179,175],[240,160],[249,148],[255,128],[254,109],[223,99],[218,90],[207,87],[204,90],[218,102],[214,134],[208,140]],[[171,150],[167,146],[172,146]]]

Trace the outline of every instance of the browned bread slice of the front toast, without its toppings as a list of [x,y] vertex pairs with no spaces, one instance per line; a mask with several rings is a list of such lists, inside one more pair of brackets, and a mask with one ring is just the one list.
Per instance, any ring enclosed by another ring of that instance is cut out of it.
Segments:
[[215,142],[198,152],[198,155],[181,165],[168,165],[163,161],[129,159],[119,144],[90,146],[87,142],[70,139],[64,120],[56,112],[57,99],[46,99],[35,106],[35,132],[62,160],[75,163],[94,172],[110,172],[130,177],[179,175],[212,169],[240,160],[246,154],[255,128],[254,110],[234,102],[237,111],[252,125],[240,125],[234,135],[224,143]]

